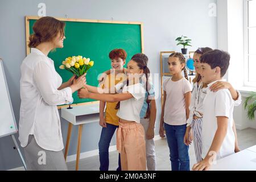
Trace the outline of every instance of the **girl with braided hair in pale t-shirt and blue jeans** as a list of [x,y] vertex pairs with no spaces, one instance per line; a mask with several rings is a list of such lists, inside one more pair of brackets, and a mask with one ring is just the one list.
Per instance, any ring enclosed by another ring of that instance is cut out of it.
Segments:
[[[168,65],[172,77],[163,83],[164,97],[159,134],[164,137],[164,129],[166,130],[172,171],[189,171],[188,146],[184,144],[183,139],[192,88],[185,69],[185,58],[181,53],[172,53]],[[185,78],[181,74],[182,71]]]

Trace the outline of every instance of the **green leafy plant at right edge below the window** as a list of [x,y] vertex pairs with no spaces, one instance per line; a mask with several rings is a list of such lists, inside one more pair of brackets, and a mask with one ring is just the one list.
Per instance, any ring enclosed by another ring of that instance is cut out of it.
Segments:
[[254,121],[254,112],[256,110],[256,92],[251,92],[249,97],[246,97],[243,107],[247,110],[247,118]]

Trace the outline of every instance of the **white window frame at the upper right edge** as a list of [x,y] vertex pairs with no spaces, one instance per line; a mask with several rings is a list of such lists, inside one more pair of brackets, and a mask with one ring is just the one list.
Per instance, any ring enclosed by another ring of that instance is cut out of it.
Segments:
[[256,82],[253,82],[253,81],[249,81],[249,47],[248,47],[248,44],[249,44],[249,41],[248,41],[248,29],[249,29],[249,22],[248,22],[248,6],[249,6],[249,1],[252,1],[252,0],[244,0],[243,2],[243,47],[244,47],[244,75],[243,75],[243,84],[244,86],[250,86],[250,87],[256,87]]

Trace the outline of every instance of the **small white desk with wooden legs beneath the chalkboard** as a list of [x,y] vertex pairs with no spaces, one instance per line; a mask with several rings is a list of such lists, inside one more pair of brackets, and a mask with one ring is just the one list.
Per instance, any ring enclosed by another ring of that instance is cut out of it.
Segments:
[[86,123],[100,121],[100,102],[95,104],[74,106],[73,109],[62,108],[61,117],[66,119],[68,124],[68,134],[65,146],[64,158],[67,160],[68,147],[72,133],[73,125],[79,126],[78,140],[77,140],[77,152],[76,152],[76,171],[79,169],[80,149],[81,149],[81,137],[82,126]]

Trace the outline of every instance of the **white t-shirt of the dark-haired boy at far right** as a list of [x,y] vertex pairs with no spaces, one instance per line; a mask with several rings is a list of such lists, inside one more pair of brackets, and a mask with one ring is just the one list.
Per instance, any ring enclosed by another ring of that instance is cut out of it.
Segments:
[[235,136],[232,129],[234,101],[228,89],[211,92],[209,87],[214,84],[214,82],[208,84],[207,94],[204,99],[204,117],[202,125],[203,147],[201,156],[202,158],[205,158],[210,146],[212,145],[213,138],[217,130],[217,117],[224,116],[228,118],[228,131],[223,140],[220,151],[217,153],[217,159],[220,159],[234,153]]

